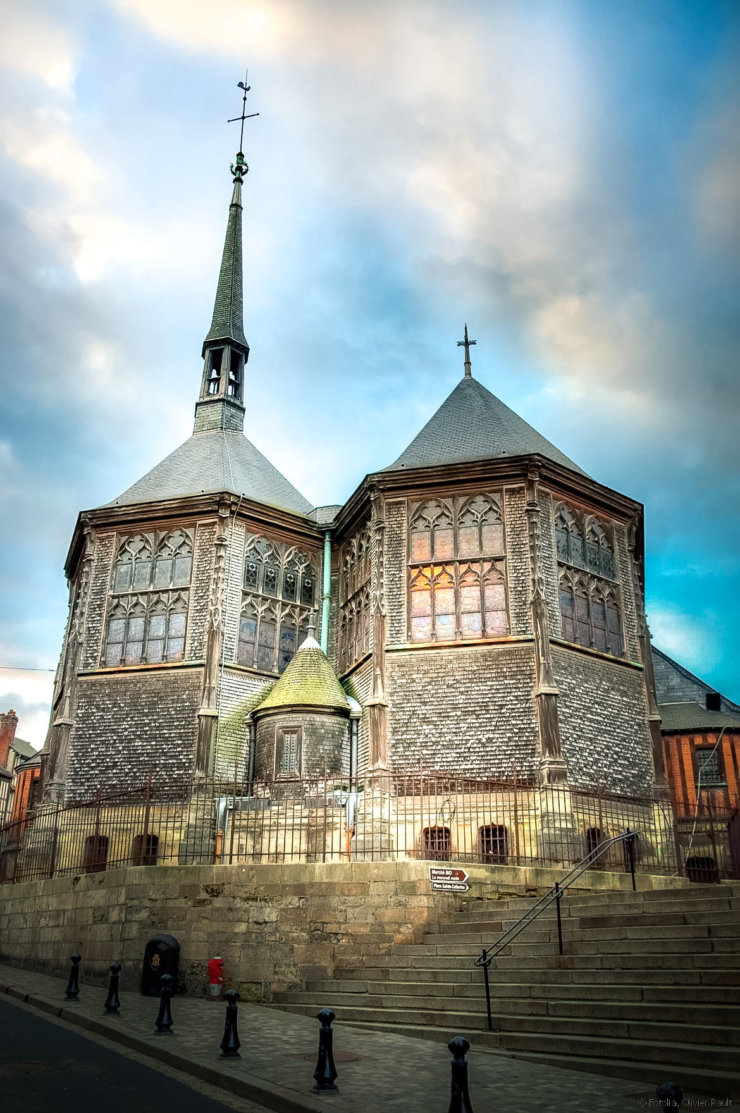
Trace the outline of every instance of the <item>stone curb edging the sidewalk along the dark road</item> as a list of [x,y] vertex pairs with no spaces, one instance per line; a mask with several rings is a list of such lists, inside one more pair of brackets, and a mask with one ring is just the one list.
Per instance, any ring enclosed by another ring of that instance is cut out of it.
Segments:
[[[96,1035],[103,1036],[110,1040],[111,1043],[122,1044],[131,1051],[139,1052],[139,1054],[145,1055],[147,1058],[165,1063],[167,1066],[171,1066],[182,1074],[190,1074],[193,1077],[199,1078],[200,1082],[207,1082],[209,1085],[218,1086],[239,1097],[257,1102],[267,1109],[275,1110],[276,1113],[325,1113],[326,1111],[326,1105],[322,1101],[308,1094],[302,1095],[293,1090],[286,1090],[284,1086],[277,1086],[272,1082],[263,1080],[249,1080],[236,1075],[229,1076],[218,1067],[208,1066],[206,1063],[198,1063],[165,1046],[152,1046],[141,1036],[134,1035],[124,1028],[114,1027],[112,1023],[115,1022],[106,1023],[102,1020],[97,1021],[91,1016],[83,1016],[77,1013],[73,1007],[70,1007],[69,1004],[56,1004],[47,997],[39,997],[33,993],[27,993],[23,989],[9,985],[7,982],[0,982],[0,993],[21,1001],[23,1004],[37,1008],[40,1013],[58,1016],[60,1020],[67,1021],[79,1028],[85,1028],[88,1032],[93,1032]],[[336,1095],[334,1096],[336,1097]]]

